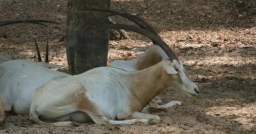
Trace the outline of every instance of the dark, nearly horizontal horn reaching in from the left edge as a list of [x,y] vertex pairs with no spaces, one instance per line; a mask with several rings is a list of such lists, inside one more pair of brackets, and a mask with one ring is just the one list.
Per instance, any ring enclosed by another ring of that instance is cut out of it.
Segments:
[[44,23],[55,23],[55,24],[59,24],[55,21],[47,21],[47,20],[40,20],[40,19],[32,19],[32,20],[11,20],[11,21],[0,21],[0,27],[4,26],[4,25],[11,25],[11,24],[15,24],[15,23],[34,23],[37,25],[45,25]]

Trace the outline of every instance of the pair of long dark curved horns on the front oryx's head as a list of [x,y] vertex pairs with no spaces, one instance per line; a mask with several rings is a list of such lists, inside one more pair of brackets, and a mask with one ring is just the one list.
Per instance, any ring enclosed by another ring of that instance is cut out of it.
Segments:
[[131,15],[129,13],[121,13],[118,11],[112,11],[108,9],[86,9],[89,11],[102,11],[106,13],[110,13],[108,16],[112,15],[120,15],[122,17],[125,17],[134,23],[136,23],[139,27],[134,26],[134,25],[127,25],[127,24],[101,24],[101,25],[108,25],[108,27],[113,28],[113,29],[125,29],[129,31],[135,31],[138,34],[141,34],[143,36],[146,36],[147,38],[150,38],[152,42],[167,54],[167,56],[172,59],[172,60],[177,60],[179,62],[179,58],[172,52],[172,50],[168,47],[168,45],[160,38],[158,33],[154,30],[154,28],[145,20],[143,20],[140,17],[137,17],[136,15]]

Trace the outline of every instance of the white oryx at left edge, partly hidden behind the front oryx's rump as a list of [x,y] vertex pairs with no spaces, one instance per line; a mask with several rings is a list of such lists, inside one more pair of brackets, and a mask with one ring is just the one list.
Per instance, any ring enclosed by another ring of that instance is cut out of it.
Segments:
[[37,87],[53,78],[69,76],[69,74],[48,69],[61,67],[60,65],[49,64],[48,42],[46,44],[45,62],[42,62],[36,42],[35,46],[38,62],[7,60],[0,64],[0,96],[5,111],[11,111],[15,114],[28,114],[32,92]]

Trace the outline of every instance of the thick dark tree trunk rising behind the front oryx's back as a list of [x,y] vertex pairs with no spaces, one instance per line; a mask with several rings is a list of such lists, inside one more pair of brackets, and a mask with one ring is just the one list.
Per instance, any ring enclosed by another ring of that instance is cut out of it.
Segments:
[[108,17],[104,13],[82,10],[109,7],[110,0],[69,0],[66,52],[70,74],[106,66],[108,27],[96,27],[93,23],[106,23]]

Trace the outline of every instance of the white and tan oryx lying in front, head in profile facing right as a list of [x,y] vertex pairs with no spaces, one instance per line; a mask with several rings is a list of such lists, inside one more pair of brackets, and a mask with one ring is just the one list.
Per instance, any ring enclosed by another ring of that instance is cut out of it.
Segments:
[[177,56],[157,34],[141,25],[141,28],[123,24],[108,26],[147,36],[164,50],[167,60],[133,72],[100,67],[51,80],[34,90],[30,119],[38,124],[62,126],[91,119],[103,124],[158,123],[160,117],[141,110],[160,91],[172,87],[197,95],[197,85],[185,75]]

